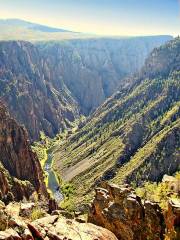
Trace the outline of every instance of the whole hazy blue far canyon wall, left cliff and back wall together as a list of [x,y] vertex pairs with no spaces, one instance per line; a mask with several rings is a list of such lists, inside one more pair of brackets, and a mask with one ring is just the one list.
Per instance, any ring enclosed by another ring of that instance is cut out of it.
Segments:
[[31,140],[53,137],[89,114],[142,66],[170,36],[72,40],[31,44],[0,42],[0,97]]

